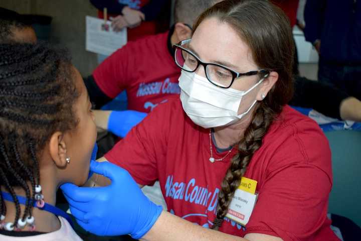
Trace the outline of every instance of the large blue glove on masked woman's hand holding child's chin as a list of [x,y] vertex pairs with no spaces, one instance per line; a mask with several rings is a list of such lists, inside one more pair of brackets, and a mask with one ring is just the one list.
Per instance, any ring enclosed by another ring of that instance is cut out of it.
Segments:
[[141,238],[158,219],[162,207],[143,194],[125,169],[91,161],[90,170],[110,178],[111,184],[93,188],[70,183],[61,186],[79,225],[97,235]]

